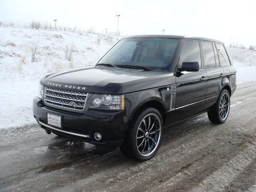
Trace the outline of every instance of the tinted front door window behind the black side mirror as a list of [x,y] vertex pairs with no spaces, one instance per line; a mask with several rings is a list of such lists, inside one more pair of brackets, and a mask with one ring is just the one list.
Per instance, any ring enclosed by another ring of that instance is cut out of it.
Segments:
[[182,62],[198,61],[201,68],[201,53],[199,47],[199,41],[185,40],[182,52],[180,55],[180,64]]

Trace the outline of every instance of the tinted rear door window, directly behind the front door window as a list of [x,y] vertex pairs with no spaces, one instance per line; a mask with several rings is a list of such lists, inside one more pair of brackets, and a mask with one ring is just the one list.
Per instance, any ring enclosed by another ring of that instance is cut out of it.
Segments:
[[214,49],[211,42],[201,41],[203,58],[204,58],[204,68],[216,67]]

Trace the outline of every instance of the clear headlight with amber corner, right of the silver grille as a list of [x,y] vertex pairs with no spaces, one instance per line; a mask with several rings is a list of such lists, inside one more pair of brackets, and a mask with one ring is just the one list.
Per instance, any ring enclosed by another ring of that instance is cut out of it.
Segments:
[[124,95],[94,94],[87,101],[90,109],[97,110],[124,110]]

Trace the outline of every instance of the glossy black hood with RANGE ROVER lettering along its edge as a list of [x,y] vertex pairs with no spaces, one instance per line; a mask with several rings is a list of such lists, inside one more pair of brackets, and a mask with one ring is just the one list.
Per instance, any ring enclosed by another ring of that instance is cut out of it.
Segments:
[[94,67],[46,76],[41,83],[57,89],[87,93],[124,94],[170,84],[173,73]]

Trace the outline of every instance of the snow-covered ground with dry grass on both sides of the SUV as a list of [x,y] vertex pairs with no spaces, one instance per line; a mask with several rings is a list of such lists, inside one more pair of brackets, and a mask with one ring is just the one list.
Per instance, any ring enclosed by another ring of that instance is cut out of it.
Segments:
[[[32,99],[46,74],[95,65],[120,37],[86,32],[0,27],[0,129],[35,123]],[[36,48],[35,61],[31,62]],[[72,52],[71,61],[65,59]],[[256,81],[256,52],[229,49],[237,83]],[[68,54],[66,54],[68,53]]]

